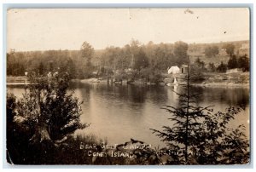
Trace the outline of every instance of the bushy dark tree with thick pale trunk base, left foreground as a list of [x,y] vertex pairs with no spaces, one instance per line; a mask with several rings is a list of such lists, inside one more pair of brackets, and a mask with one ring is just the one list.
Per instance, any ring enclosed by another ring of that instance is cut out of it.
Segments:
[[29,76],[30,85],[23,98],[17,102],[17,116],[32,131],[30,142],[55,143],[73,134],[77,129],[84,129],[80,123],[81,103],[72,94],[67,94],[68,74],[62,76]]

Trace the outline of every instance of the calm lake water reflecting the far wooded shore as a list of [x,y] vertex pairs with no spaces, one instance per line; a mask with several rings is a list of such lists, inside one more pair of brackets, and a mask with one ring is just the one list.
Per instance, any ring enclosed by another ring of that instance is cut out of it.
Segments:
[[[160,129],[163,125],[172,126],[167,118],[172,114],[161,109],[166,105],[178,106],[176,93],[182,87],[108,85],[107,83],[73,83],[74,96],[83,100],[81,121],[90,127],[76,134],[93,134],[107,139],[109,144],[119,144],[130,140],[143,140],[153,146],[165,146],[149,129]],[[249,136],[249,88],[193,87],[193,93],[201,93],[196,99],[200,106],[214,106],[214,112],[224,111],[229,106],[244,106],[230,127],[239,124],[246,126]],[[22,86],[8,86],[8,91],[21,97]]]

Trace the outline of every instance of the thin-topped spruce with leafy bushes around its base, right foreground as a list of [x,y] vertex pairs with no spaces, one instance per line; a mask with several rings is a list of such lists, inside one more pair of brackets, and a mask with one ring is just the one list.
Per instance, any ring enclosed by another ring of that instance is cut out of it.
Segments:
[[188,75],[179,95],[180,105],[166,106],[172,114],[172,126],[163,126],[163,131],[151,129],[167,144],[177,164],[234,164],[248,163],[249,142],[243,133],[244,126],[229,129],[228,123],[236,117],[241,108],[229,107],[226,112],[214,112],[212,106],[198,106],[200,94],[191,93]]

